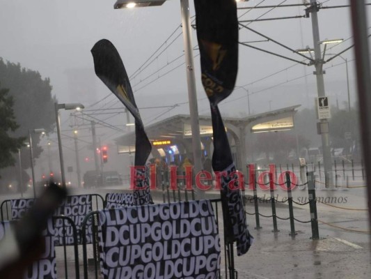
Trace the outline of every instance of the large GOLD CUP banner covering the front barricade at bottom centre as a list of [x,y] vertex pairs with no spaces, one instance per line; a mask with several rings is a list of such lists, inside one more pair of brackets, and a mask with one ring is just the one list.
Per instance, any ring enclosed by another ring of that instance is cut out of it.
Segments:
[[113,278],[217,278],[220,241],[210,200],[100,211],[102,274]]

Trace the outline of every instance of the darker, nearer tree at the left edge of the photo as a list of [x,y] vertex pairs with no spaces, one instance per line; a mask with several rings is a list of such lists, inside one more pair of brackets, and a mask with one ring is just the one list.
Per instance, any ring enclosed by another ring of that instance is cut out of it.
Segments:
[[[21,148],[24,137],[10,137],[19,125],[15,121],[13,97],[8,96],[9,89],[1,88],[0,84],[0,169],[15,164],[12,153]],[[0,176],[1,177],[1,176]]]

